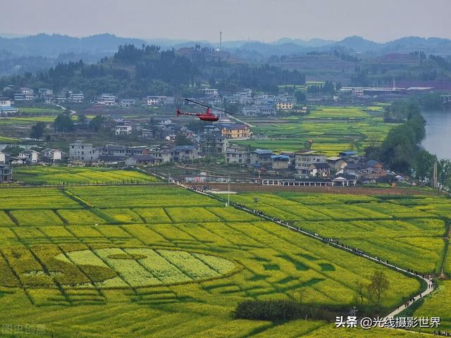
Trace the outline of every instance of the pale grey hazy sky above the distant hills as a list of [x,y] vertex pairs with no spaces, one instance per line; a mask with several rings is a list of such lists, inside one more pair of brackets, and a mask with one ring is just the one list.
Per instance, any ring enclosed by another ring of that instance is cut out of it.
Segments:
[[451,0],[13,0],[1,1],[0,32],[165,37],[216,41],[280,37],[378,42],[451,38]]

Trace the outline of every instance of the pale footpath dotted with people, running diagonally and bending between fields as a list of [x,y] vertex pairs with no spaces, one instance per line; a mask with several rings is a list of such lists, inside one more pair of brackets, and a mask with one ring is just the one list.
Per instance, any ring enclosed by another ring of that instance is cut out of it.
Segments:
[[[218,200],[218,201],[223,201],[220,197],[215,196],[214,194],[208,194],[208,193],[206,193],[206,192],[201,192],[201,191],[192,189],[192,188],[190,188],[190,187],[188,187],[188,186],[185,186],[184,184],[181,184],[181,183],[178,183],[178,182],[176,182],[175,184],[177,184],[177,185],[179,185],[180,187],[183,187],[183,188],[185,188],[185,189],[188,189],[188,190],[190,190],[190,191],[192,191],[192,192],[195,192],[195,193],[197,193],[197,194],[202,194],[202,195],[204,195],[204,196],[208,196],[208,197],[213,198],[213,199],[216,199],[216,200]],[[264,215],[264,214],[261,214],[261,213],[255,213],[255,212],[252,211],[251,209],[247,208],[247,206],[244,206],[244,205],[237,205],[237,204],[230,204],[230,205],[233,206],[234,208],[237,208],[237,209],[241,210],[241,211],[245,211],[245,212],[247,212],[247,213],[252,213],[253,215],[258,215],[260,218],[263,218],[263,219],[265,219],[265,220],[268,220],[268,221],[270,221],[270,222],[272,222],[272,223],[276,223],[277,225],[280,225],[280,226],[285,227],[285,228],[287,228],[287,229],[289,229],[289,230],[295,231],[295,232],[297,232],[297,233],[299,233],[299,234],[304,234],[304,235],[307,236],[307,237],[311,237],[311,238],[313,238],[313,239],[316,239],[316,240],[318,240],[319,242],[321,242],[321,243],[323,243],[323,244],[328,244],[328,245],[333,246],[333,247],[335,247],[335,248],[338,248],[338,249],[341,249],[341,250],[343,250],[343,251],[347,251],[347,252],[349,252],[349,253],[352,253],[352,254],[354,254],[355,256],[359,256],[359,257],[362,257],[362,258],[366,258],[366,259],[369,260],[369,261],[373,261],[374,263],[378,263],[378,264],[380,264],[380,265],[384,265],[384,266],[387,267],[387,268],[390,268],[390,269],[392,269],[392,270],[395,270],[395,271],[397,271],[397,272],[399,272],[399,273],[403,273],[404,275],[409,275],[410,277],[413,277],[413,278],[415,278],[415,279],[417,279],[417,280],[420,279],[420,280],[422,280],[424,283],[426,283],[426,289],[423,289],[422,286],[421,286],[421,292],[419,292],[419,294],[416,294],[415,296],[412,297],[412,299],[413,299],[414,301],[411,301],[411,302],[409,303],[408,306],[398,306],[397,309],[395,309],[394,311],[392,311],[391,313],[389,313],[388,315],[385,316],[385,318],[384,318],[385,320],[386,320],[387,318],[394,317],[395,315],[397,315],[398,313],[400,313],[400,312],[401,312],[402,310],[404,310],[405,308],[408,308],[409,306],[412,306],[412,304],[413,304],[415,301],[417,301],[418,299],[421,299],[422,297],[424,297],[424,296],[430,294],[431,292],[433,292],[433,291],[435,290],[433,286],[431,287],[431,284],[433,285],[433,280],[432,280],[432,278],[424,277],[424,276],[421,276],[421,275],[419,275],[419,274],[413,273],[413,272],[408,271],[408,270],[406,270],[406,269],[404,269],[404,268],[401,268],[401,267],[399,267],[399,266],[397,266],[397,265],[394,265],[394,264],[392,264],[392,263],[388,263],[388,261],[385,261],[385,262],[384,262],[384,261],[382,261],[380,258],[376,258],[376,257],[374,257],[374,256],[369,256],[368,254],[363,253],[362,251],[354,251],[354,249],[348,248],[348,247],[346,247],[346,246],[344,246],[344,245],[340,245],[340,244],[335,243],[335,242],[329,242],[329,241],[327,241],[326,238],[323,238],[323,237],[319,236],[319,234],[307,232],[307,231],[305,231],[305,230],[302,230],[301,228],[293,227],[292,225],[288,224],[288,222],[285,222],[285,221],[283,221],[283,220],[278,220],[278,218],[271,218],[271,217],[268,216],[268,215]],[[420,284],[420,285],[421,285],[421,284]]]

